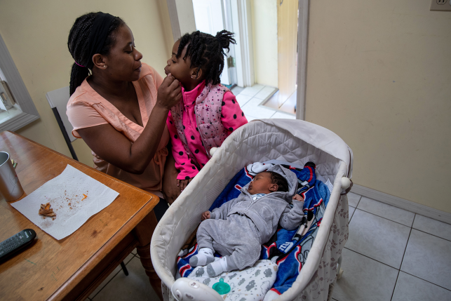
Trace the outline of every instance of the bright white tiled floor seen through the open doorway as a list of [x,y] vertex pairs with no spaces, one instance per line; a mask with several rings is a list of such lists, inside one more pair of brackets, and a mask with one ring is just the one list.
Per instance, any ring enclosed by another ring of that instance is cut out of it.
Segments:
[[252,87],[242,89],[236,94],[236,100],[238,100],[238,104],[240,104],[248,121],[267,118],[296,119],[296,116],[293,114],[287,114],[262,105],[276,90],[273,87],[255,84]]

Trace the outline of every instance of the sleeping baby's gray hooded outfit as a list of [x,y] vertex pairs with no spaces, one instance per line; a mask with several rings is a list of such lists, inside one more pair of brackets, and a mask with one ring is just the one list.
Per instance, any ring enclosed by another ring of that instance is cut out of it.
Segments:
[[253,200],[248,184],[236,199],[213,209],[210,219],[198,227],[198,248],[210,248],[227,257],[227,271],[254,265],[262,244],[271,239],[279,223],[292,230],[302,221],[304,202],[292,200],[297,189],[295,173],[280,165],[267,171],[282,175],[288,181],[288,192],[271,192]]

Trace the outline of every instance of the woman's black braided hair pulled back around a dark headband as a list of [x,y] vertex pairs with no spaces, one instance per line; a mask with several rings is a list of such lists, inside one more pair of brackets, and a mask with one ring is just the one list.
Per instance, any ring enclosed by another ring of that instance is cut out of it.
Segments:
[[[89,34],[93,27],[93,22],[97,13],[86,13],[79,18],[76,18],[74,25],[69,32],[69,39],[67,40],[67,48],[69,48],[69,53],[74,58],[75,62],[83,66],[88,66],[92,58],[89,56]],[[100,51],[101,55],[108,55],[109,50],[114,46],[116,32],[119,27],[125,25],[126,23],[119,17],[115,17],[108,29],[108,36],[105,40],[105,44]],[[75,89],[81,85],[81,83],[90,74],[88,67],[81,67],[74,63],[72,65],[72,71],[70,74],[70,84],[69,90],[70,95],[75,92]]]

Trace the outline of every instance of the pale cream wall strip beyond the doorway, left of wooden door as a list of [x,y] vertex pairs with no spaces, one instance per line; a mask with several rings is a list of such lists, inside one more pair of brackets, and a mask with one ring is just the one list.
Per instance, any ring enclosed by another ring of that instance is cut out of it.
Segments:
[[250,0],[255,82],[278,86],[277,1]]

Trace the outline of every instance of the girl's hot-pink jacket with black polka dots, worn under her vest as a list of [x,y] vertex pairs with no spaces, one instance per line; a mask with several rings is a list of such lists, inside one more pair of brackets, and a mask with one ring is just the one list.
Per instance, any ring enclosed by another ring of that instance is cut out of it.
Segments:
[[[188,148],[191,151],[191,154],[193,154],[194,158],[196,158],[201,168],[206,165],[209,158],[205,147],[202,145],[201,134],[197,130],[194,107],[196,104],[196,98],[199,94],[201,94],[204,87],[205,81],[199,83],[198,86],[191,91],[184,91],[182,86],[182,105],[184,105],[182,123],[184,135],[187,138]],[[187,180],[189,178],[194,178],[194,176],[198,173],[198,169],[196,168],[196,165],[191,162],[189,156],[185,153],[182,141],[178,138],[177,128],[175,128],[173,116],[170,112],[166,122],[168,124],[170,139],[173,144],[172,152],[175,159],[175,168],[180,170],[180,173],[177,175],[177,179]],[[236,101],[235,95],[231,92],[224,93],[224,98],[222,100],[221,122],[225,128],[229,129],[228,135],[240,126],[248,123],[243,111],[241,111],[240,105],[238,105],[238,102]]]

